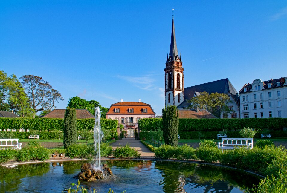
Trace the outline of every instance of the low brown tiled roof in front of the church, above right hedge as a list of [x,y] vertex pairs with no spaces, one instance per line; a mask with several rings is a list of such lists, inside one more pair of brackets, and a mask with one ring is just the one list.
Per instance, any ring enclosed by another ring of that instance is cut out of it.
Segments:
[[217,117],[206,110],[199,110],[196,112],[196,110],[179,109],[178,113],[179,118],[185,119],[217,119]]

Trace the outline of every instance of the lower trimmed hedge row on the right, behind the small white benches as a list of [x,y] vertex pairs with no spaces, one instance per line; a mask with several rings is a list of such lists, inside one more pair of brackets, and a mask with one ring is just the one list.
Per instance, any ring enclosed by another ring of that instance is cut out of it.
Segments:
[[[259,131],[259,133],[255,134],[254,138],[261,138],[261,133],[264,133],[262,131]],[[269,131],[269,134],[271,134],[272,138],[287,138],[287,132],[286,131]],[[200,133],[198,131],[179,131],[178,132],[180,139],[192,139],[192,140],[198,140],[199,135],[200,139],[217,139],[218,131],[201,131]],[[239,134],[239,131],[227,131],[227,137],[241,137]],[[152,137],[149,134],[149,131],[141,131],[140,132],[140,138],[146,138],[147,140],[150,140]]]

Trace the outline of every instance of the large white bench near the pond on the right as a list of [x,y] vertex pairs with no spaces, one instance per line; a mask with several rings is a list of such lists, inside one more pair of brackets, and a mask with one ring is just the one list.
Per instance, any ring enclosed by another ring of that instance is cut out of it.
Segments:
[[253,138],[225,138],[218,143],[218,148],[222,149],[234,149],[244,147],[248,149],[253,148]]

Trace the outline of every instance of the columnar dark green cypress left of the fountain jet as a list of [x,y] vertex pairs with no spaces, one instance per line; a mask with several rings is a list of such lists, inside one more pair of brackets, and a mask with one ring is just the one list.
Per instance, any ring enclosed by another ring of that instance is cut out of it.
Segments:
[[64,117],[64,148],[77,142],[76,109],[67,107]]

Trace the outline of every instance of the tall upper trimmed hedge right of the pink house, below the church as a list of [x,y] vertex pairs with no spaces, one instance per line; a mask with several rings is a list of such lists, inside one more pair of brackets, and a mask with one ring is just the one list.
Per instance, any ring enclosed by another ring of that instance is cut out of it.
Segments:
[[[179,119],[178,131],[237,131],[244,127],[261,130],[280,131],[287,127],[287,118],[249,118],[249,119]],[[140,130],[162,129],[161,118],[146,118],[138,121]]]

